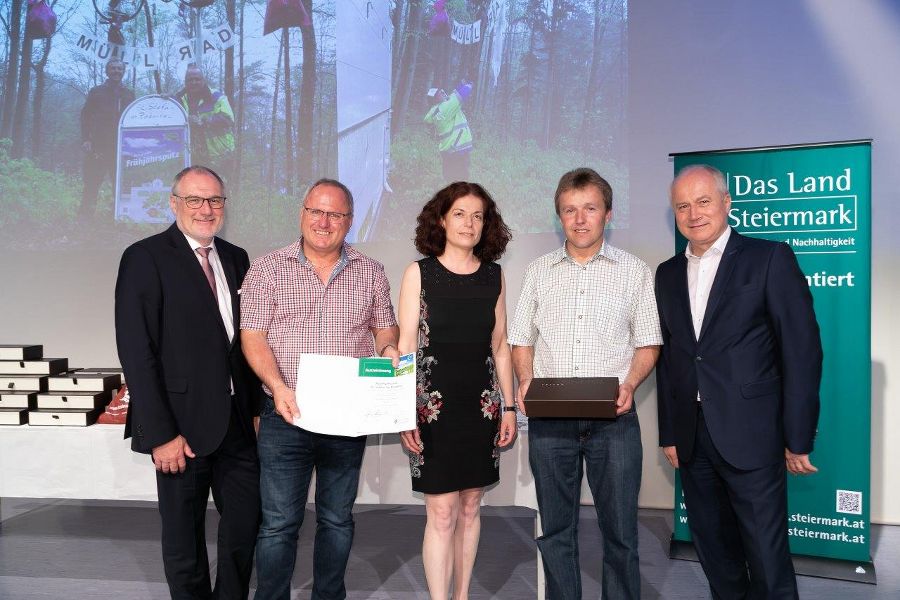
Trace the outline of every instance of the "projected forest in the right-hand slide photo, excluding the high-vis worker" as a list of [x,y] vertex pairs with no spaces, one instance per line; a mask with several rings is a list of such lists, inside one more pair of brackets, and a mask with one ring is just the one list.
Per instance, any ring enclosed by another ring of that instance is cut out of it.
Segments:
[[[552,207],[534,200],[552,198],[574,165],[597,168],[627,197],[625,0],[398,0],[391,16],[392,214],[415,214],[442,184],[425,92],[449,95],[460,82],[472,85],[471,178],[516,231],[552,227]],[[627,216],[622,203],[616,217]],[[396,236],[412,226],[396,222]]]

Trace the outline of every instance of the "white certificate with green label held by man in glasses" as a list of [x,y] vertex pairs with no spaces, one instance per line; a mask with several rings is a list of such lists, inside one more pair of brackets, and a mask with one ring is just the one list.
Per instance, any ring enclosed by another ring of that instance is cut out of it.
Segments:
[[397,433],[416,427],[416,360],[301,354],[294,425],[329,435]]

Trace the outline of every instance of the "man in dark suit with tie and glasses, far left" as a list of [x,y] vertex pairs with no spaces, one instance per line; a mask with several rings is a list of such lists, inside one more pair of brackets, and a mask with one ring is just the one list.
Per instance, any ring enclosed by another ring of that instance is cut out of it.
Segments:
[[[172,598],[246,598],[259,526],[253,418],[259,380],[241,352],[238,293],[247,253],[215,237],[225,188],[206,167],[181,171],[175,223],[125,250],[116,282],[116,342],[131,392],[125,437],[156,466]],[[211,588],[206,505],[221,515]]]

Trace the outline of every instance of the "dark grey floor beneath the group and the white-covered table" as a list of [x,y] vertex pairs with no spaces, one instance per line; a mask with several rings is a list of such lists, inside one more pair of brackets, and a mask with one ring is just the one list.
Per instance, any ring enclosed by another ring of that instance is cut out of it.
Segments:
[[[420,506],[357,507],[356,538],[347,572],[348,597],[427,598],[420,556]],[[533,512],[485,507],[472,599],[537,596]],[[217,517],[210,511],[209,522]],[[156,507],[147,502],[4,498],[0,503],[0,598],[168,598],[159,549]],[[708,598],[696,563],[667,557],[672,512],[641,510],[643,598]],[[300,536],[292,598],[309,598],[315,524],[307,513]],[[215,533],[207,544],[215,557]],[[600,544],[593,508],[582,509],[580,549],[585,598],[600,597]],[[800,577],[801,598],[900,598],[900,527],[873,526],[878,585]]]

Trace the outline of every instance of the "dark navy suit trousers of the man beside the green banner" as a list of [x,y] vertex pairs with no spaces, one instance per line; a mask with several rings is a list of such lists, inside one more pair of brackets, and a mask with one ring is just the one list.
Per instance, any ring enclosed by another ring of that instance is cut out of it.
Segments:
[[698,411],[694,455],[679,466],[691,536],[713,598],[797,598],[784,461],[750,471],[732,467]]

